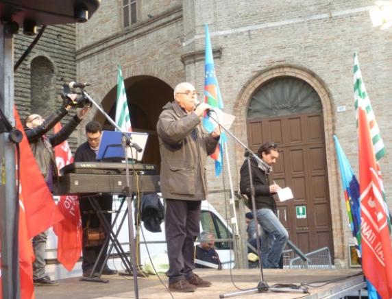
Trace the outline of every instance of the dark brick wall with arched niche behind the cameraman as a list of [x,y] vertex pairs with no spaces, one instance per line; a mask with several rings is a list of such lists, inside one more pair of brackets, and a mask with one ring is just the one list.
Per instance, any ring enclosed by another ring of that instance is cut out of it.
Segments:
[[[34,38],[35,36],[24,35],[22,31],[14,36],[15,63]],[[36,62],[36,75],[33,82],[36,83],[32,86],[32,62],[34,65],[34,61]],[[42,82],[48,82],[48,75],[45,71],[48,69],[51,69],[50,84],[42,86]],[[62,84],[74,81],[75,78],[75,25],[47,26],[32,52],[14,73],[14,99],[21,119],[25,119],[32,113],[41,114],[43,117],[49,116],[62,103],[60,98]],[[34,102],[32,102],[32,93],[36,98]],[[74,114],[75,110],[71,110],[62,123],[66,123]],[[77,132],[70,137],[69,144],[75,149]]]

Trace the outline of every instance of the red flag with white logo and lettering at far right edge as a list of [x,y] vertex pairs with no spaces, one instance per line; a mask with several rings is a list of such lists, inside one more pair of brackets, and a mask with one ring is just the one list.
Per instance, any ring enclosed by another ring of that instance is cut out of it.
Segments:
[[392,247],[367,112],[358,101],[360,217],[363,273],[382,298],[392,298]]

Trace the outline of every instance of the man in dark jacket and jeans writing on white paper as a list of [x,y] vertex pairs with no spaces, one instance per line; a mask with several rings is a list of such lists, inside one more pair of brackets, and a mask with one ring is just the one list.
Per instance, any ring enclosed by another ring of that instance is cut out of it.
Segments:
[[[262,261],[262,265],[266,268],[278,268],[280,256],[289,239],[289,233],[280,223],[278,217],[276,217],[277,210],[273,194],[277,193],[280,190],[280,187],[275,182],[273,182],[273,184],[270,184],[269,182],[269,174],[272,172],[272,165],[276,163],[279,156],[278,145],[273,142],[262,144],[258,149],[258,156],[261,160],[256,160],[253,156],[250,160],[255,194],[256,216],[258,224],[265,230],[267,237],[272,240],[268,254],[263,254],[263,256],[267,256],[267,261]],[[247,160],[243,163],[240,173],[241,193],[247,195],[249,204],[252,205],[252,202],[250,201],[250,177]]]

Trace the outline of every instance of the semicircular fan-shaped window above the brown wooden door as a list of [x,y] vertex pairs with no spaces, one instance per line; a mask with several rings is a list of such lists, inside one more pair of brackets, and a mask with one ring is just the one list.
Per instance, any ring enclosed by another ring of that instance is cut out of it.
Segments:
[[322,110],[319,95],[307,82],[296,77],[277,77],[260,86],[252,95],[247,119]]

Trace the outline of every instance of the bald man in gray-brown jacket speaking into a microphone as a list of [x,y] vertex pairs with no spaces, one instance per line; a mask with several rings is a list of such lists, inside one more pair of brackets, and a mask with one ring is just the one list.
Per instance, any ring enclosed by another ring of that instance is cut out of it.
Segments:
[[195,291],[211,283],[193,273],[194,241],[199,234],[201,200],[206,199],[206,158],[217,147],[220,132],[208,134],[201,117],[210,106],[196,106],[195,87],[174,88],[174,101],[163,107],[157,123],[161,169],[160,187],[166,200],[165,233],[169,256],[169,289]]

